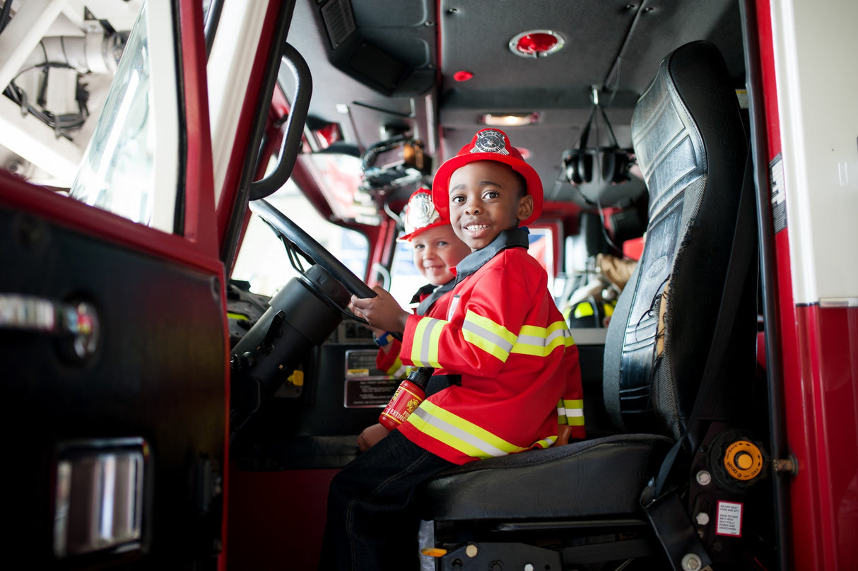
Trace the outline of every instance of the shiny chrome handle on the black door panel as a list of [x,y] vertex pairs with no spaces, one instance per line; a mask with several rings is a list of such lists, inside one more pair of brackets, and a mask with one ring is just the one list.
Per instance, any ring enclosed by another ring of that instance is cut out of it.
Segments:
[[86,302],[62,303],[16,293],[0,293],[0,329],[55,335],[70,340],[76,358],[88,358],[98,348],[100,322]]

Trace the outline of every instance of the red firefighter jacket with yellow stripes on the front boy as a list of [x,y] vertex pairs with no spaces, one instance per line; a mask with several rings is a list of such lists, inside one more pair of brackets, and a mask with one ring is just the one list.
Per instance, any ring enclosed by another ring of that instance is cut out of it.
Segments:
[[432,316],[408,316],[402,362],[462,384],[432,394],[398,430],[450,462],[547,448],[559,413],[571,437],[584,436],[577,347],[527,244],[526,229],[501,233],[459,263]]

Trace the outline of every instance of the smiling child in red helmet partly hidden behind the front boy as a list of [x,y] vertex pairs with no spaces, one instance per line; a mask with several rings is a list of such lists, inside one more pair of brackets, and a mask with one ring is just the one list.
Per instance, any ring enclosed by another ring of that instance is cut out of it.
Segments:
[[[411,243],[414,266],[429,281],[411,298],[411,303],[417,304],[414,313],[431,316],[436,301],[453,289],[456,275],[452,269],[471,250],[453,232],[450,220],[438,213],[432,204],[432,192],[429,189],[418,189],[411,195],[402,211],[402,222],[405,234],[396,240]],[[375,329],[373,337],[379,346],[376,368],[388,375],[395,375],[404,368],[399,358],[402,342],[396,340],[389,331],[381,329]],[[382,424],[367,427],[358,437],[360,450],[366,452],[389,432]]]

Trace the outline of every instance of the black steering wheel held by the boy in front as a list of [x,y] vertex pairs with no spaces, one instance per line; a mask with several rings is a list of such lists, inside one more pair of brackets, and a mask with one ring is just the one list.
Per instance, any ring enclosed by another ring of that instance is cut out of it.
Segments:
[[[272,228],[275,229],[282,237],[285,237],[289,242],[295,244],[302,253],[311,257],[318,266],[330,274],[330,276],[340,282],[349,292],[352,292],[358,298],[375,298],[376,292],[370,289],[362,279],[354,275],[341,261],[337,260],[324,246],[318,243],[310,234],[306,233],[299,225],[295,224],[284,213],[281,213],[269,202],[259,199],[250,202],[251,210],[260,218],[265,220]],[[322,293],[322,292],[320,292]],[[324,296],[327,297],[327,296]],[[333,303],[329,299],[329,302]],[[355,316],[347,310],[342,310],[347,316],[356,319],[359,322],[366,323],[362,317]]]

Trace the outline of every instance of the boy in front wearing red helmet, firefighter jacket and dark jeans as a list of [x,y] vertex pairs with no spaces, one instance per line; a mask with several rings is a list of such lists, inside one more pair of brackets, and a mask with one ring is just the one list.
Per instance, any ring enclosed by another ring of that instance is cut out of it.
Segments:
[[584,436],[577,348],[520,227],[541,213],[540,178],[503,131],[483,129],[438,168],[432,201],[471,249],[453,291],[433,316],[408,314],[381,288],[352,305],[374,327],[402,332],[403,363],[461,384],[427,390],[397,430],[337,475],[322,568],[417,568],[417,485],[449,466],[551,446],[559,412],[572,437]]

